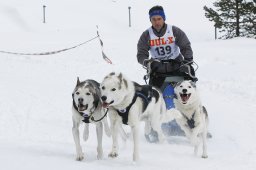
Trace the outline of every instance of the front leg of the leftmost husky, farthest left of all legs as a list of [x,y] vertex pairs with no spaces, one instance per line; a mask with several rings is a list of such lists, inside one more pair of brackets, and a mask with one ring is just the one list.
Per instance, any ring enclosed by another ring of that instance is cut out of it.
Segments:
[[72,133],[73,133],[73,138],[74,138],[75,145],[76,145],[76,160],[81,161],[84,159],[84,153],[82,152],[82,147],[80,145],[79,129],[78,128],[79,128],[79,123],[73,119]]

